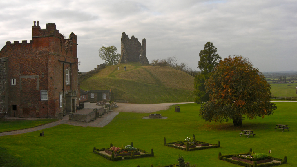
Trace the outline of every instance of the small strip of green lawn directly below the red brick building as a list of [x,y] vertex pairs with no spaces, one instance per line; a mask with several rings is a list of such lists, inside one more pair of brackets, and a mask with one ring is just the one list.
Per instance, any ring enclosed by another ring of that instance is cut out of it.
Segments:
[[0,119],[0,133],[27,129],[31,127],[36,127],[44,124],[48,124],[50,122],[55,122],[57,119],[37,119],[37,120],[23,120],[23,119]]

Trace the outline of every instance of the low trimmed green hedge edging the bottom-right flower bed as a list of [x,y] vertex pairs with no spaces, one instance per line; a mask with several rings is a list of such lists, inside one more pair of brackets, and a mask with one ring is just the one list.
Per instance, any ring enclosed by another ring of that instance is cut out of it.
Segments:
[[[243,155],[243,154],[251,154],[251,152],[241,153],[240,155]],[[239,155],[239,154],[237,154],[237,155]],[[234,156],[234,154],[232,154],[232,155],[223,155],[222,160],[230,162],[230,163],[234,163],[236,165],[245,166],[245,167],[253,167],[254,166],[253,164],[246,163],[246,162],[243,162],[243,161],[228,159],[228,158],[231,158],[233,156]],[[282,159],[280,159],[280,158],[272,157],[272,159],[282,162]],[[284,163],[274,163],[274,162],[273,163],[265,163],[265,164],[260,163],[260,164],[257,164],[257,167],[269,167],[269,166],[277,166],[277,165],[282,165],[282,164],[284,164]]]

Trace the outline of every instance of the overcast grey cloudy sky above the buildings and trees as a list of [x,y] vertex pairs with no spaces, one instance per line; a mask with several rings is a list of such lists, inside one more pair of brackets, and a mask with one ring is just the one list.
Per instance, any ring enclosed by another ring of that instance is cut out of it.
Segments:
[[120,53],[122,32],[146,38],[149,62],[178,56],[198,70],[198,54],[210,41],[223,59],[242,55],[260,71],[296,71],[296,9],[296,0],[2,0],[0,47],[31,40],[39,20],[41,28],[55,23],[66,37],[78,36],[80,71],[103,62],[102,46],[115,45]]

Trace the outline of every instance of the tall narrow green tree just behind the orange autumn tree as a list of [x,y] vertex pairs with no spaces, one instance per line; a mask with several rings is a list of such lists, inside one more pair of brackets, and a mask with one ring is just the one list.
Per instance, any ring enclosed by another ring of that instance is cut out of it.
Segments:
[[212,42],[207,42],[204,45],[204,49],[199,53],[200,60],[198,67],[201,73],[195,76],[195,102],[197,104],[207,102],[209,100],[209,94],[206,92],[205,81],[209,79],[211,72],[217,66],[218,62],[222,58],[217,54],[217,48],[214,47]]

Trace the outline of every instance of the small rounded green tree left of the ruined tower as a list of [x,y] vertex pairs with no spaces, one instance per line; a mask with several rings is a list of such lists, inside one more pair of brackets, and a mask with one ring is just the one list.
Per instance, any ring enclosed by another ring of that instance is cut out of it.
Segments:
[[121,54],[116,53],[117,51],[118,49],[114,45],[109,47],[102,46],[99,49],[99,57],[106,61],[108,65],[118,64]]

